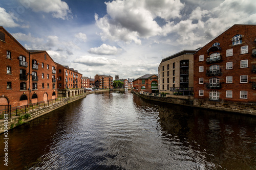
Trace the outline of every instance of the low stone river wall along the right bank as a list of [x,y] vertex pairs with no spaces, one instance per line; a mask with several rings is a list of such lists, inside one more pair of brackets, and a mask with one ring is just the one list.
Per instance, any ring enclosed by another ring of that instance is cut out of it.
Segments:
[[161,94],[154,94],[154,93],[148,93],[148,92],[140,92],[140,93],[135,91],[132,91],[132,92],[146,100],[172,103],[172,104],[211,109],[211,110],[250,114],[250,115],[256,116],[256,103],[229,102],[224,100],[210,101],[210,100],[194,99],[193,96],[170,95],[170,94],[161,96]]

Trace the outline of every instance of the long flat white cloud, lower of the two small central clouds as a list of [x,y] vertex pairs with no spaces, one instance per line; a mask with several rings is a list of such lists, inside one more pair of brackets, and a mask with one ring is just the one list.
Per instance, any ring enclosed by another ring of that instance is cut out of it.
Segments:
[[121,63],[116,59],[92,56],[81,56],[79,58],[76,58],[73,62],[88,66],[121,65]]

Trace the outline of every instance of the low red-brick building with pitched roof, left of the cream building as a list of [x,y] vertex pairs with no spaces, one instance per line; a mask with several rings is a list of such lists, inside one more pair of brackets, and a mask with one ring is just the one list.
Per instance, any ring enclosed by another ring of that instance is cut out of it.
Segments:
[[158,75],[144,75],[133,81],[133,91],[155,93],[158,90]]

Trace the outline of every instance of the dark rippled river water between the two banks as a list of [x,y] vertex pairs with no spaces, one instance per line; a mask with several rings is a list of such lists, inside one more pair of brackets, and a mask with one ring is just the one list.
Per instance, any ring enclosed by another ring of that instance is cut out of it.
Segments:
[[103,92],[8,132],[0,169],[256,169],[256,117]]

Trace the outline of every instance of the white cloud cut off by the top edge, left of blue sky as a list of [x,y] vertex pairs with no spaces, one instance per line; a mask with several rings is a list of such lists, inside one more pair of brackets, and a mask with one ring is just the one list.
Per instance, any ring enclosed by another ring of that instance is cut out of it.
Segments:
[[52,13],[54,18],[70,19],[71,10],[66,2],[61,0],[20,0],[25,8],[31,8],[35,12]]

